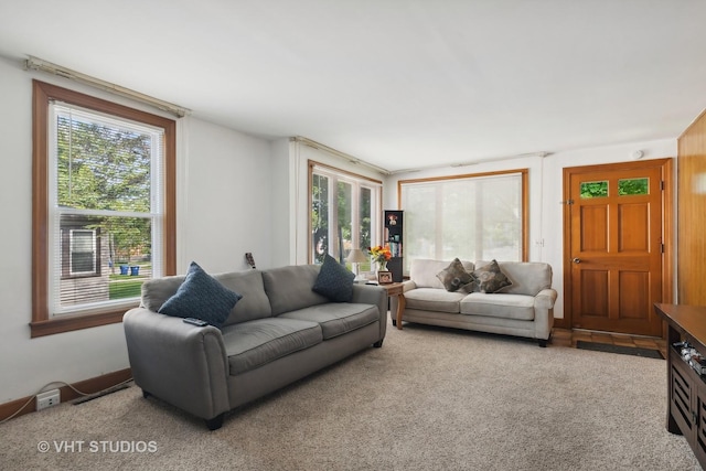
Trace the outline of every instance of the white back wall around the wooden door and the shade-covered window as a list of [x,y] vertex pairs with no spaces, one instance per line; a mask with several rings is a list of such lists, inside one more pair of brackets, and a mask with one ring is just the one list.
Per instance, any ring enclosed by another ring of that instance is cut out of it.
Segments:
[[553,285],[559,293],[554,315],[555,318],[563,318],[564,238],[561,229],[564,227],[564,207],[560,201],[563,200],[564,191],[564,169],[629,161],[631,152],[634,150],[642,150],[644,152],[643,159],[676,158],[676,139],[576,149],[556,152],[545,158],[525,157],[462,168],[447,167],[394,174],[385,179],[385,208],[394,210],[398,207],[397,184],[399,180],[530,169],[530,261],[546,261],[552,265],[554,272]]

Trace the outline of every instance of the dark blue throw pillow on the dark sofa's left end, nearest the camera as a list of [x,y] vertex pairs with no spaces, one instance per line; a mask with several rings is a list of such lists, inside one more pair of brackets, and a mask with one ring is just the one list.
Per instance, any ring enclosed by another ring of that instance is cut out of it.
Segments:
[[202,319],[221,329],[242,298],[192,261],[184,282],[157,312],[175,318]]

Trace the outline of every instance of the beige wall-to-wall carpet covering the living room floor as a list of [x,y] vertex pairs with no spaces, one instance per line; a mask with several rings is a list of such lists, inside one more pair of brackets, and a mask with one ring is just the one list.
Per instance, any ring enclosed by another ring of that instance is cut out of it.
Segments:
[[0,426],[0,468],[698,470],[664,427],[665,371],[663,360],[391,327],[382,349],[214,432],[135,386],[19,417]]

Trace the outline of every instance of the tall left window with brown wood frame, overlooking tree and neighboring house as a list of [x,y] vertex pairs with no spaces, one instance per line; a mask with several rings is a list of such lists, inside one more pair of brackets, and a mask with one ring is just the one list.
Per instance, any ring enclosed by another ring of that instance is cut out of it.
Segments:
[[34,82],[32,336],[118,322],[174,272],[174,125]]

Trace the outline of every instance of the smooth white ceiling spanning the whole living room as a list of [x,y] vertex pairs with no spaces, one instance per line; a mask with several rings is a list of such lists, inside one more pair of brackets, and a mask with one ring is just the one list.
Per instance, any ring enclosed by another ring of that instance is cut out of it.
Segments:
[[705,0],[2,0],[33,55],[391,171],[676,138]]

